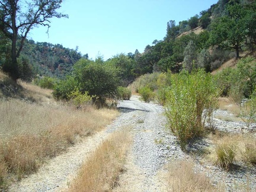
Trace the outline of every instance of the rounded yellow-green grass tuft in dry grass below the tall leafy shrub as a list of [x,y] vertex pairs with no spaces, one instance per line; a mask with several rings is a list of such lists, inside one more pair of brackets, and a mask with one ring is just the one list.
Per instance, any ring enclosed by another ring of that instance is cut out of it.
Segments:
[[215,150],[217,155],[216,164],[219,167],[229,169],[233,164],[233,159],[235,158],[234,147],[224,142],[218,143]]

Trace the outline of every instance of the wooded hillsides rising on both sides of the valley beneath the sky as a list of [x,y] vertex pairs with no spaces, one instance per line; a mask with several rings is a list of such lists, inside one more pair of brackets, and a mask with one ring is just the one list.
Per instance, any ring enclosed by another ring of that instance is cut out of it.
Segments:
[[[219,0],[199,15],[188,20],[167,23],[167,33],[162,40],[153,40],[145,46],[143,53],[137,50],[114,56],[105,62],[118,62],[126,73],[135,77],[152,72],[180,72],[182,69],[204,68],[215,71],[230,59],[252,52],[256,44],[256,2],[251,0]],[[0,33],[0,66],[8,58],[10,42]],[[61,42],[60,42],[61,43]],[[121,51],[121,50],[120,50]],[[103,53],[104,54],[104,53]],[[32,66],[31,76],[65,78],[70,75],[73,65],[82,56],[78,49],[69,49],[61,44],[35,43],[26,40],[20,56],[20,65]],[[123,60],[130,60],[127,65]],[[27,65],[27,64],[26,64]],[[28,68],[23,70],[28,75]]]

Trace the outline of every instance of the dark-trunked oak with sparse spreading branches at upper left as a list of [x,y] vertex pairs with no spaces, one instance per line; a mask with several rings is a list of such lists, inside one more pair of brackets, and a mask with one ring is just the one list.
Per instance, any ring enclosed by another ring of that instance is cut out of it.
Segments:
[[68,15],[57,12],[61,4],[62,0],[0,0],[0,31],[11,40],[11,58],[3,69],[14,81],[20,78],[17,58],[28,32],[39,25],[49,29],[50,18],[67,18]]

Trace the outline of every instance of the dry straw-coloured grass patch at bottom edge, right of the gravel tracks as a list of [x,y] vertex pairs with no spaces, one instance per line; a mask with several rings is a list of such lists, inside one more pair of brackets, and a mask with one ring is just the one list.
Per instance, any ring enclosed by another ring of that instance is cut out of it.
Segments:
[[167,184],[168,191],[224,191],[220,185],[214,187],[203,173],[196,173],[188,161],[169,164]]

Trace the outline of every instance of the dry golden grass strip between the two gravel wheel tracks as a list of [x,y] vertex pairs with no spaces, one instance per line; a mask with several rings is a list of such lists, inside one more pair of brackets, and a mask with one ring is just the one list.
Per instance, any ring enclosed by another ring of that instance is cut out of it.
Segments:
[[111,191],[123,169],[129,143],[128,131],[105,140],[82,165],[69,191]]

